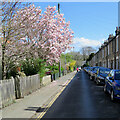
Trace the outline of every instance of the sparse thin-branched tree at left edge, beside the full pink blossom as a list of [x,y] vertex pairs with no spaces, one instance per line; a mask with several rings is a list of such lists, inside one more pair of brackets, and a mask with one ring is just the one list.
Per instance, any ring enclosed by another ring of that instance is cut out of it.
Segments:
[[[18,0],[11,0],[11,2],[4,0],[1,2],[0,61],[2,61],[2,79],[5,78],[6,72],[9,71],[10,63],[15,63],[18,56],[16,51],[20,49],[20,46],[18,44],[17,46],[13,44],[16,32],[12,24],[13,16],[18,8],[24,6],[27,6],[27,4],[21,5]],[[19,35],[19,37],[22,36]]]

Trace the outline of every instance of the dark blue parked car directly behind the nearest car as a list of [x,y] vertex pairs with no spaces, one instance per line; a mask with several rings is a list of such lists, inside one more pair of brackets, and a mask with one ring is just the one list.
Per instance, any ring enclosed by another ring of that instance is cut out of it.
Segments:
[[105,84],[105,78],[108,76],[109,72],[111,69],[109,68],[104,68],[104,67],[99,67],[97,70],[97,74],[95,76],[95,82],[96,84]]

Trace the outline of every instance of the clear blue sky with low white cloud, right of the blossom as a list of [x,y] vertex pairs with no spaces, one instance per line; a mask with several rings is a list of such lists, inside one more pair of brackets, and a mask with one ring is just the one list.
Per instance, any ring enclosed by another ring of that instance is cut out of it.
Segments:
[[[57,2],[34,2],[44,11]],[[60,2],[60,13],[74,31],[73,45],[75,51],[84,46],[98,48],[109,34],[115,34],[118,26],[117,2]]]

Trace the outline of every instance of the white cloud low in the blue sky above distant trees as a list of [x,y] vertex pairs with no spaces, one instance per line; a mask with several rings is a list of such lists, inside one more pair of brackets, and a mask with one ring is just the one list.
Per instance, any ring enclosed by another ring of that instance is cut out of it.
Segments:
[[81,38],[74,38],[73,39],[73,46],[77,46],[77,47],[85,47],[85,46],[91,46],[91,47],[99,47],[101,46],[101,44],[104,42],[105,39],[101,39],[101,40],[91,40],[91,39],[87,39],[84,37]]

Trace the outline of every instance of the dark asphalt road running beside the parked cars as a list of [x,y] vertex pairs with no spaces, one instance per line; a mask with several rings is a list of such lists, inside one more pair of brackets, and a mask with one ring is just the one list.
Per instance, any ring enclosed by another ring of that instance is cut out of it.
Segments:
[[120,101],[112,102],[103,86],[80,71],[43,118],[120,118]]

